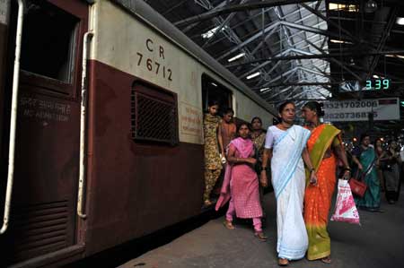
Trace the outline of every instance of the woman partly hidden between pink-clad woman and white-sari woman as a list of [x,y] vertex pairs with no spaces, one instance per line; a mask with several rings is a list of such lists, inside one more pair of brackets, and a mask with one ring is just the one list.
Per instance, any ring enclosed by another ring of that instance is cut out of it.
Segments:
[[[257,159],[257,164],[255,165],[255,171],[259,176],[261,173],[261,166],[262,166],[262,153],[264,152],[264,144],[265,144],[265,136],[266,134],[262,131],[262,120],[259,117],[254,117],[251,120],[251,141],[254,143],[255,147],[255,156]],[[259,201],[261,203],[263,217],[262,219],[265,220],[266,213],[264,210],[264,187],[259,185]]]

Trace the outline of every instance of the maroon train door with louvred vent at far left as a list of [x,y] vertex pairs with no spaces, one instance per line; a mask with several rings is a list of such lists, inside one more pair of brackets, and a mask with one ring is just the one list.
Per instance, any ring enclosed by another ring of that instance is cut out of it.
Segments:
[[[17,1],[11,2],[9,51],[15,48],[18,11]],[[5,250],[1,263],[6,265],[57,262],[57,255],[66,258],[81,250],[76,246],[76,196],[81,63],[89,8],[82,0],[24,3],[13,197],[9,227],[0,236]],[[13,73],[13,59],[7,71]],[[11,83],[5,87],[5,99],[11,96]]]

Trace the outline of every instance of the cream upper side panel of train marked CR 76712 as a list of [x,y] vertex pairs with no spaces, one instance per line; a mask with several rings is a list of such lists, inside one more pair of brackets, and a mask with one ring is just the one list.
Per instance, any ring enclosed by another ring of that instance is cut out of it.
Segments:
[[91,16],[95,31],[92,59],[178,94],[180,142],[203,144],[203,73],[233,91],[237,117],[250,121],[259,116],[265,126],[272,120],[264,108],[119,6],[98,1]]

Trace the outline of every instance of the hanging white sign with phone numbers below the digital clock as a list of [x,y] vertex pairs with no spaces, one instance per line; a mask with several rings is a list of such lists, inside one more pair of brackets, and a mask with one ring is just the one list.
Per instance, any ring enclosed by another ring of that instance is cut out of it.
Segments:
[[324,120],[329,122],[368,121],[373,113],[375,121],[399,120],[400,101],[389,99],[350,99],[324,102]]

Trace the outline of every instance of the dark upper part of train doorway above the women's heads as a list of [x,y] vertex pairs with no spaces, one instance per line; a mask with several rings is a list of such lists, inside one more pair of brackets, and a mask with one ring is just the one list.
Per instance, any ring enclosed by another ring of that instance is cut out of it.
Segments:
[[219,102],[219,116],[222,116],[226,108],[233,108],[232,91],[214,79],[202,74],[202,107],[207,111],[209,101]]

